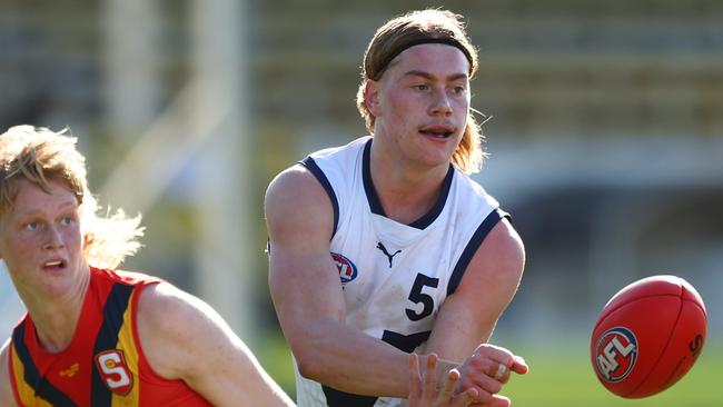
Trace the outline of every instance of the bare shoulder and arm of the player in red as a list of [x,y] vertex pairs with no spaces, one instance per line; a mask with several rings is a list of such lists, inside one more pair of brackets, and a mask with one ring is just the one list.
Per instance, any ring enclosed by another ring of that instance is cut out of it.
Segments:
[[138,334],[158,375],[214,406],[294,406],[218,312],[170,284],[141,291]]

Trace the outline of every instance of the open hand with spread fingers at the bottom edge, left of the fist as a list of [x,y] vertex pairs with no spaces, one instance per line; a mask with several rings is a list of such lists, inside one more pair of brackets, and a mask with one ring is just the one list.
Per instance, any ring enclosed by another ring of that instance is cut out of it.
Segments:
[[475,400],[477,390],[471,388],[454,396],[454,388],[459,380],[459,370],[452,369],[446,375],[442,388],[437,388],[437,355],[427,356],[427,363],[419,376],[419,358],[416,354],[409,356],[409,397],[408,407],[466,407]]

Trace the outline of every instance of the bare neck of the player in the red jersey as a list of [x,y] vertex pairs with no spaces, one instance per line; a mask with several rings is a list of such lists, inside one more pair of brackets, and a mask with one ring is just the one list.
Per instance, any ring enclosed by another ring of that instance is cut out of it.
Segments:
[[78,281],[72,290],[53,298],[23,298],[32,317],[40,346],[51,353],[60,353],[70,346],[80,320],[90,275]]

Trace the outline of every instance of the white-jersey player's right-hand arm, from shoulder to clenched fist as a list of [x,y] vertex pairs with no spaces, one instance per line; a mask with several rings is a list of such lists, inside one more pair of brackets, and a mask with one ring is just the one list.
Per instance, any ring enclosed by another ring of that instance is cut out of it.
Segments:
[[506,399],[497,393],[511,373],[528,369],[509,350],[485,344],[517,290],[524,264],[519,236],[506,219],[501,220],[473,256],[455,292],[442,305],[425,348],[442,359],[462,363],[457,388],[475,388],[482,404],[505,405],[497,401]]

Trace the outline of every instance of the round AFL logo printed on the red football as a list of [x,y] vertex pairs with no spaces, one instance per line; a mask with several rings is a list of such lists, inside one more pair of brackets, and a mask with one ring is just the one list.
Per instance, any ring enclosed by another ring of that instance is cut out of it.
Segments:
[[595,368],[600,377],[610,383],[623,380],[635,367],[637,339],[623,327],[608,329],[600,336],[595,347]]

